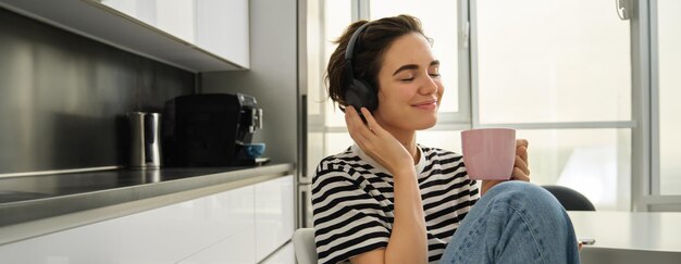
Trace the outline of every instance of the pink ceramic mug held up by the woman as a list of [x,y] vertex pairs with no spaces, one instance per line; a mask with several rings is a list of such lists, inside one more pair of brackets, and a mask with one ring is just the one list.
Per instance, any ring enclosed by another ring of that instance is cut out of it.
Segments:
[[471,179],[510,179],[516,162],[516,130],[480,128],[461,131],[463,164]]

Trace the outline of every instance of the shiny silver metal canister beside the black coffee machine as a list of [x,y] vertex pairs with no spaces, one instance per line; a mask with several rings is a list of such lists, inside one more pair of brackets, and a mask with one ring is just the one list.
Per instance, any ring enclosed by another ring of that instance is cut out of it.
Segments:
[[161,115],[127,113],[131,127],[129,167],[153,169],[161,167]]

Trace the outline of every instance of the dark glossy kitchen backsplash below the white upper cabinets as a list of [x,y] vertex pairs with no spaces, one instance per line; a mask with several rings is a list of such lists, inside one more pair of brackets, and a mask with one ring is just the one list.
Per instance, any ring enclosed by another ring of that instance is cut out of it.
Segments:
[[0,175],[124,164],[124,114],[195,74],[0,9]]

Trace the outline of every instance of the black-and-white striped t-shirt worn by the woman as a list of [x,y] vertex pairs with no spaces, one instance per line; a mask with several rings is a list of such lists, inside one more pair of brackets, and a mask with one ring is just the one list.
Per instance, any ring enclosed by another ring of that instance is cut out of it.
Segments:
[[[425,214],[429,262],[436,263],[454,231],[480,198],[460,154],[418,146],[416,165]],[[393,177],[357,146],[327,156],[312,179],[319,263],[386,248],[394,222]]]

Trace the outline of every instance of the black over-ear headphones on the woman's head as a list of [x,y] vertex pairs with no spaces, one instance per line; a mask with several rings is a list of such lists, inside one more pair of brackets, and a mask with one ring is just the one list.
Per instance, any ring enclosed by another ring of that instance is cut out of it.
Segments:
[[347,76],[347,88],[345,90],[345,102],[348,105],[352,105],[357,112],[363,106],[369,111],[373,112],[379,108],[379,98],[376,96],[376,90],[371,87],[371,85],[364,80],[356,79],[352,74],[352,50],[357,45],[359,39],[359,35],[367,28],[369,22],[361,25],[352,36],[350,37],[350,41],[348,41],[348,46],[345,49],[345,72]]

